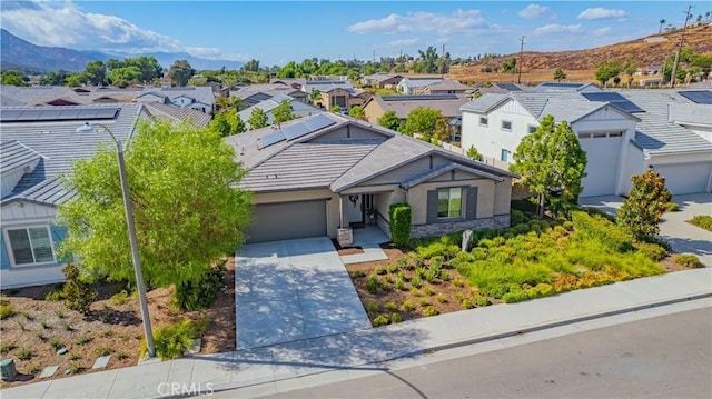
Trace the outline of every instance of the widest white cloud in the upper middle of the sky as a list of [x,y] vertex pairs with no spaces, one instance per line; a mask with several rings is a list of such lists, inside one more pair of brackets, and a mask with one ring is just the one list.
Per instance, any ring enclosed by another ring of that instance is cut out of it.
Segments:
[[369,19],[354,23],[346,30],[362,34],[437,32],[441,36],[447,36],[468,33],[487,27],[487,21],[478,10],[456,10],[451,14],[422,11],[409,12],[404,16],[392,13],[382,19]]

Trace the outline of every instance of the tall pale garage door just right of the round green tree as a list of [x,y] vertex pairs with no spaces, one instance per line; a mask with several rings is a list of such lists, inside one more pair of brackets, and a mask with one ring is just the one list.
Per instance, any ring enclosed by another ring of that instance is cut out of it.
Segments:
[[[615,179],[619,176],[619,154],[622,137],[620,133],[580,134],[581,148],[586,151],[586,177],[581,181],[581,197],[615,194]],[[613,136],[613,137],[612,137]]]

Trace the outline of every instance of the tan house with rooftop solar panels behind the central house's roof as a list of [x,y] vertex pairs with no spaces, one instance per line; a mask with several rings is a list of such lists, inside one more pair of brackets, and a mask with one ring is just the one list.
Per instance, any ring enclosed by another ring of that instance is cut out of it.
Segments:
[[374,124],[386,111],[394,111],[399,120],[405,121],[417,107],[436,109],[449,121],[459,117],[459,107],[467,101],[469,98],[464,94],[372,96],[364,104],[364,111],[366,119]]

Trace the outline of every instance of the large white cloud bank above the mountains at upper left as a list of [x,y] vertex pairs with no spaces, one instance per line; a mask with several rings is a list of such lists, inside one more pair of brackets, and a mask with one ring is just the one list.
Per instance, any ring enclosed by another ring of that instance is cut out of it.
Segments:
[[[178,40],[101,13],[87,13],[72,1],[16,1],[0,12],[0,24],[39,46],[125,53],[187,51],[202,57],[218,49],[185,48]],[[192,52],[195,51],[195,53]]]

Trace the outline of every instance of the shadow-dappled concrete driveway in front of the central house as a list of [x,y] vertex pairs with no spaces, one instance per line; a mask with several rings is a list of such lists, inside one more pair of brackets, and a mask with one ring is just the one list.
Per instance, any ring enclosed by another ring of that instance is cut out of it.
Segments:
[[235,291],[238,350],[370,328],[327,237],[244,246]]

